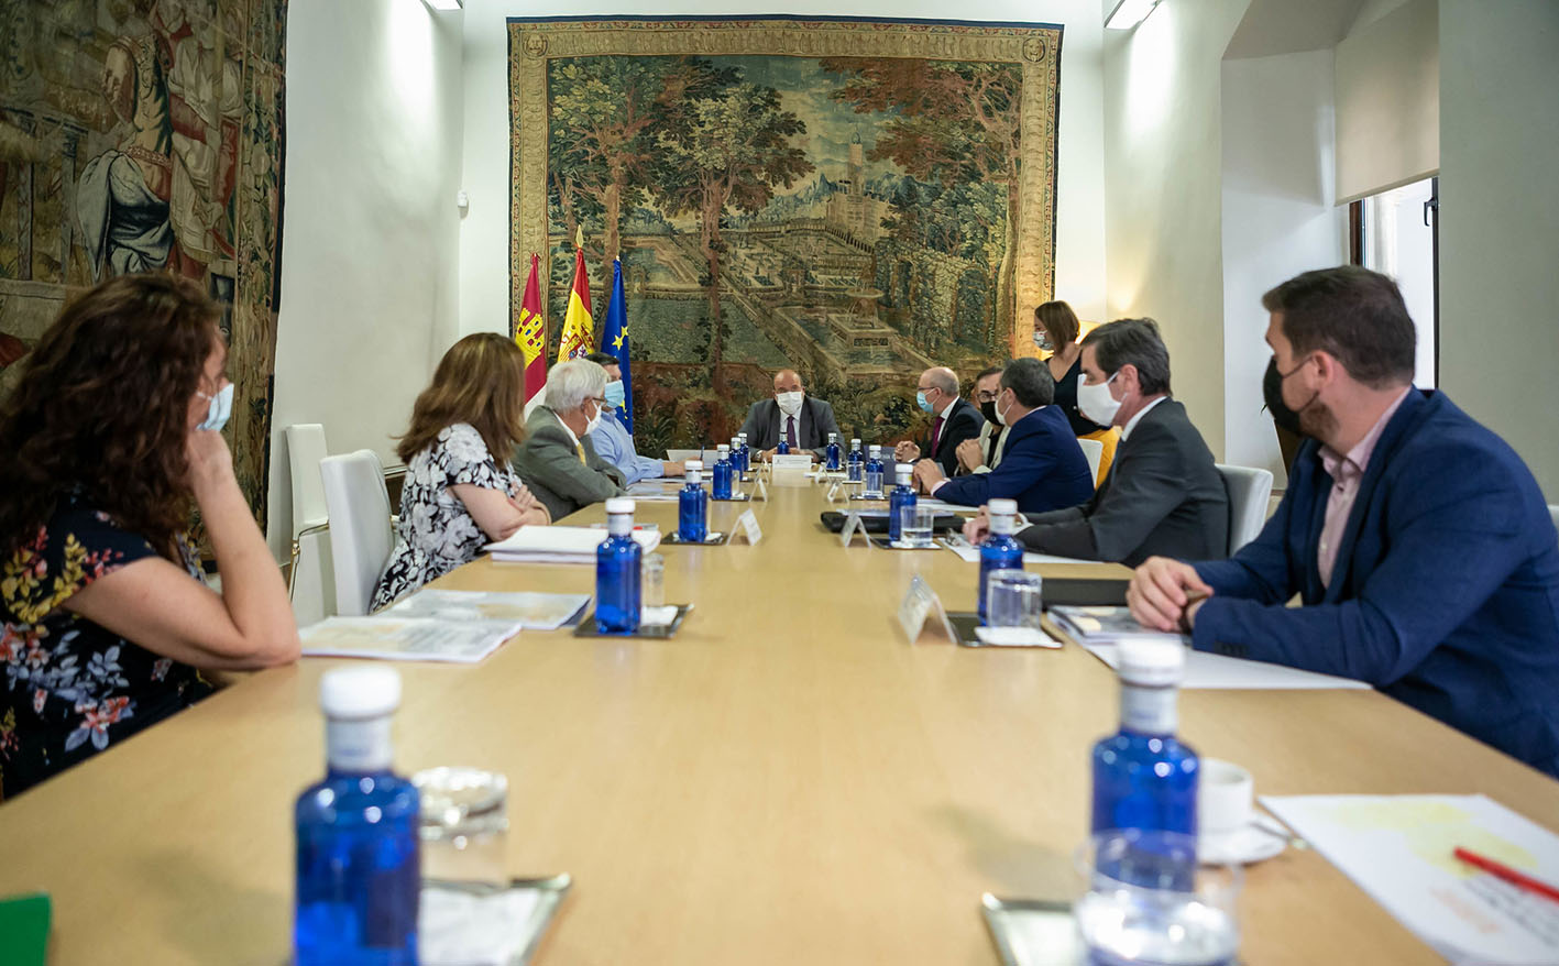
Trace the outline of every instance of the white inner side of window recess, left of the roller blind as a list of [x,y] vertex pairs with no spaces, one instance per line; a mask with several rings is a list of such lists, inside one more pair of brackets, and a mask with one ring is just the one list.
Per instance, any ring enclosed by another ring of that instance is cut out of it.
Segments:
[[1261,293],[1347,260],[1347,209],[1335,207],[1333,53],[1222,65],[1224,460],[1272,471],[1285,486],[1272,416],[1263,411]]

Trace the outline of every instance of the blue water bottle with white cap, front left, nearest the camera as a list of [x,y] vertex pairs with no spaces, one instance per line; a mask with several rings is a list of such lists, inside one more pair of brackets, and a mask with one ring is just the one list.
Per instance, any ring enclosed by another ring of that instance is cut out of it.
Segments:
[[390,770],[401,675],[349,667],[320,679],[324,781],[293,810],[296,966],[415,966],[422,890],[419,799]]

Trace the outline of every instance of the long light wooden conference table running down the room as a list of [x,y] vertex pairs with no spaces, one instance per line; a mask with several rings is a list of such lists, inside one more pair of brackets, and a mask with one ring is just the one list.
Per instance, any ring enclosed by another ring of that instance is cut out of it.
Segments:
[[[716,530],[751,508],[758,545],[659,550],[667,601],[695,605],[672,640],[527,631],[479,665],[401,665],[398,768],[505,773],[510,871],[574,876],[544,966],[990,966],[982,893],[1076,893],[1115,675],[1071,645],[909,643],[910,576],[971,609],[976,566],[843,548],[822,489],[769,495],[711,505]],[[639,503],[666,531],[675,513]],[[437,586],[592,581],[483,558]],[[0,807],[0,896],[53,896],[50,963],[287,961],[292,806],[323,771],[318,678],[338,664],[253,675]],[[1258,793],[1481,791],[1559,830],[1559,782],[1377,692],[1190,690],[1180,709],[1182,737]],[[1250,866],[1241,911],[1252,964],[1442,961],[1314,851]]]

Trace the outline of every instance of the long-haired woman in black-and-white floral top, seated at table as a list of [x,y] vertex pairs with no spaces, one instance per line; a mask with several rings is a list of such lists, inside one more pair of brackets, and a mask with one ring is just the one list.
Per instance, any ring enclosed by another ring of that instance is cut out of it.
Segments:
[[475,559],[488,542],[552,522],[508,464],[524,438],[519,346],[493,332],[451,346],[396,449],[405,460],[401,527],[369,609]]

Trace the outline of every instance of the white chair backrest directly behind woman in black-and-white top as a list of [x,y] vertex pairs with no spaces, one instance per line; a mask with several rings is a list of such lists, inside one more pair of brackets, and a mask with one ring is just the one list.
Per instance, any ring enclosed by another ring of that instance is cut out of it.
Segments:
[[394,545],[384,467],[374,450],[360,449],[320,460],[320,478],[331,514],[335,612],[362,617]]

